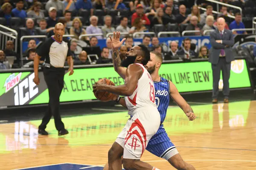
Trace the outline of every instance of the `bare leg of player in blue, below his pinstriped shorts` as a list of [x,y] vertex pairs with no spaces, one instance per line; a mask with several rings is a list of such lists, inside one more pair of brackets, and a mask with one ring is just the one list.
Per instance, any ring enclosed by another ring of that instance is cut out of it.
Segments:
[[191,164],[186,163],[180,156],[179,153],[168,159],[169,163],[172,164],[177,170],[195,170]]

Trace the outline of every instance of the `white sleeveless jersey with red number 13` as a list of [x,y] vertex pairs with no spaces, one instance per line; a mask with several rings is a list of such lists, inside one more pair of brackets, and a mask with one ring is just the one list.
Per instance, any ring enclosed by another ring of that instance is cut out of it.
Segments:
[[151,75],[142,64],[135,64],[141,66],[143,74],[138,81],[134,93],[131,96],[125,97],[125,103],[127,105],[129,115],[132,115],[133,112],[139,108],[157,108],[157,105],[155,104],[154,82]]

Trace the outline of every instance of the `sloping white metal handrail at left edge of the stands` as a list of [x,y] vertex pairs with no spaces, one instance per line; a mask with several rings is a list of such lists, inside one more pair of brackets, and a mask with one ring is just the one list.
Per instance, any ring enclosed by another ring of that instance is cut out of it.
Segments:
[[[5,31],[0,31],[0,42],[3,42],[0,45],[0,49],[5,49],[6,41],[12,40],[14,41],[14,51],[17,53],[18,50],[18,32],[14,29],[8,28],[6,26],[0,25],[0,28],[5,29]],[[7,32],[10,32],[11,34],[8,34]],[[2,34],[4,36],[2,36]]]

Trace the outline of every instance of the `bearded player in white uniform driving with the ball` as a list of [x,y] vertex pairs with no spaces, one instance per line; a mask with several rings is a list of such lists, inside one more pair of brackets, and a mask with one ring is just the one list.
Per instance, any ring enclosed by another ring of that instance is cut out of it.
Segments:
[[[125,41],[123,39],[120,42],[119,38],[120,32],[114,32],[111,38],[113,55],[118,55],[118,48]],[[144,67],[150,59],[150,52],[144,45],[134,46],[128,51],[127,58],[132,62],[126,70],[124,85],[93,85],[93,92],[108,91],[125,96],[128,114],[131,116],[112,145],[112,150],[123,154],[123,162],[121,157],[116,159],[110,156],[113,154],[109,154],[109,170],[122,170],[122,163],[126,170],[158,170],[140,161],[148,141],[160,126],[160,113],[154,102],[154,82]]]

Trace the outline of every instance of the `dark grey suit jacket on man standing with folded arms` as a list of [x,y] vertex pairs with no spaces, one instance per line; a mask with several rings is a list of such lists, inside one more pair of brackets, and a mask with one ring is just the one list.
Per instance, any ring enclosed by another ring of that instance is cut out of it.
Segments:
[[[222,44],[216,42],[216,40],[222,40]],[[217,64],[219,61],[219,56],[221,49],[224,49],[226,55],[226,62],[231,62],[235,60],[233,56],[232,46],[234,45],[234,37],[232,31],[224,29],[224,33],[221,38],[220,32],[217,30],[210,33],[210,42],[212,48],[210,50],[209,62],[212,64]]]

